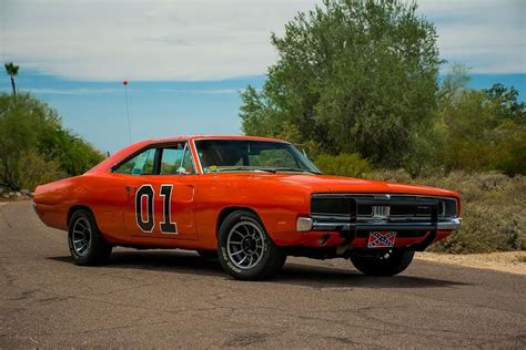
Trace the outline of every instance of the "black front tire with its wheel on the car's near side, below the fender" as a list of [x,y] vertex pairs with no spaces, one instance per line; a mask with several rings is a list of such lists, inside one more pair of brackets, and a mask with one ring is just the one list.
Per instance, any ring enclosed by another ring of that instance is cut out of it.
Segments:
[[[239,234],[241,230],[246,233],[244,238]],[[234,245],[235,239],[244,244]],[[283,249],[266,234],[257,215],[250,210],[236,210],[223,220],[218,236],[218,253],[223,269],[242,280],[270,279],[282,269],[286,259]],[[247,266],[241,261],[243,256],[250,259]]]

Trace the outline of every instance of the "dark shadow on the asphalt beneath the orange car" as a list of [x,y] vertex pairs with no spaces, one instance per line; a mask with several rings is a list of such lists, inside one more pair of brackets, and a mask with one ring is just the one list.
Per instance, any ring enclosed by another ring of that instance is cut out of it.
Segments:
[[[70,256],[48,259],[72,264]],[[114,251],[103,268],[165,271],[185,275],[202,275],[229,279],[216,259],[205,259],[193,251],[181,250],[129,250]],[[364,276],[356,270],[336,267],[287,262],[283,271],[265,282],[295,285],[311,288],[437,288],[467,285],[466,282],[398,275],[393,277]]]

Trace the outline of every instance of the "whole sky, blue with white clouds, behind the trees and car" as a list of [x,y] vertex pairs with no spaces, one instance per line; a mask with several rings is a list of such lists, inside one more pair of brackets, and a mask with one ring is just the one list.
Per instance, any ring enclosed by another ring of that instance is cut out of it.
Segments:
[[[20,64],[19,87],[103,152],[129,143],[124,79],[132,141],[239,134],[239,91],[261,86],[276,59],[270,32],[317,2],[1,0],[0,61]],[[500,82],[526,100],[526,1],[417,3],[437,28],[444,72],[462,63],[473,87]]]

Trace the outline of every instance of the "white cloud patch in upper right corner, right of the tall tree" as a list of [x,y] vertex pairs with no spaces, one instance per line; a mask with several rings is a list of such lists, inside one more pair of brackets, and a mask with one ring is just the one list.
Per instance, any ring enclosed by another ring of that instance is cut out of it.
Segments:
[[438,48],[449,64],[474,73],[526,73],[526,1],[419,0],[435,22]]

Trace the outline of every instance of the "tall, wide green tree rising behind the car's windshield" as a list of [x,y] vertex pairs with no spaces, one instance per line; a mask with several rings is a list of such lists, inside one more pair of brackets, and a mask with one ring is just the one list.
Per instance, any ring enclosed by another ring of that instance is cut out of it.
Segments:
[[242,130],[277,136],[292,124],[300,143],[323,153],[401,166],[435,107],[436,38],[414,3],[325,0],[289,22],[283,38],[272,34],[279,61],[262,91],[242,93]]

